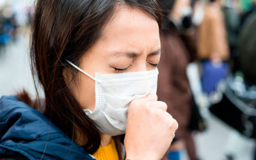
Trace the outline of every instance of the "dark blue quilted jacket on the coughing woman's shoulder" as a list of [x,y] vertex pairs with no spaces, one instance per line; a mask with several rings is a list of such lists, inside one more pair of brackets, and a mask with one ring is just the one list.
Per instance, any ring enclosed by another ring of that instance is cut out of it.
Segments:
[[0,159],[89,159],[90,154],[15,96],[0,99]]

